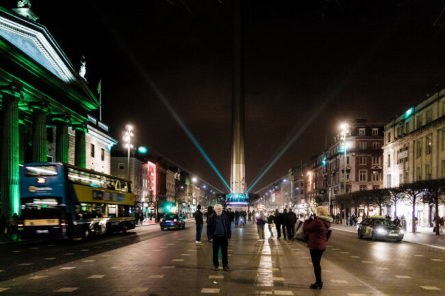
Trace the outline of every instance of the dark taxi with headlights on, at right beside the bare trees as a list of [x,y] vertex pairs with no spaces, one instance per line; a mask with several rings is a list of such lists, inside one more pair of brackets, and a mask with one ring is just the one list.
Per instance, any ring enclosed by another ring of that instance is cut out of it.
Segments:
[[396,226],[391,219],[385,216],[368,217],[357,224],[359,239],[370,237],[372,241],[378,239],[387,241],[402,241],[405,232],[401,226]]

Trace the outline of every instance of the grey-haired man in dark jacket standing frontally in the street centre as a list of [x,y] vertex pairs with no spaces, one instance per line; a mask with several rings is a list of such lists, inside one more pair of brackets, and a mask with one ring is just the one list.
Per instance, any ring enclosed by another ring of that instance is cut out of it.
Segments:
[[231,239],[230,220],[226,213],[223,213],[223,206],[215,204],[214,213],[207,218],[207,238],[213,246],[213,267],[218,270],[218,253],[221,248],[224,271],[230,271],[229,259],[227,257],[227,246]]

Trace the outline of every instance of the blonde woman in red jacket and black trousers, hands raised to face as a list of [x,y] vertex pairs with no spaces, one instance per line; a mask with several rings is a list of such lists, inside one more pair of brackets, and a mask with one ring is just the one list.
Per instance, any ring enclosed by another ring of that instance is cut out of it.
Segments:
[[327,215],[326,206],[317,206],[315,209],[316,218],[309,218],[303,224],[303,230],[309,234],[307,247],[311,253],[312,265],[314,265],[314,273],[316,282],[311,284],[309,288],[321,289],[323,282],[321,281],[320,260],[323,252],[327,247],[326,234],[331,227],[333,219]]

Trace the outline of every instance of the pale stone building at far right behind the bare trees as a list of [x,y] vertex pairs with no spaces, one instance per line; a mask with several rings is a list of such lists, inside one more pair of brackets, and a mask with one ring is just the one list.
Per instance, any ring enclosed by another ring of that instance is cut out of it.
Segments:
[[[418,180],[445,178],[445,90],[433,94],[385,125],[383,186],[398,187]],[[411,206],[398,212],[411,217]],[[418,206],[416,217],[427,225],[430,206]],[[441,217],[444,206],[440,206]]]

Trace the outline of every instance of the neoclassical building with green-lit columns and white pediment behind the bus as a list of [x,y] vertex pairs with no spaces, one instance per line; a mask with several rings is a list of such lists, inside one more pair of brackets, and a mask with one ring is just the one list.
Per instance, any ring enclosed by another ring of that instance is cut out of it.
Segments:
[[7,219],[20,213],[21,163],[60,161],[110,173],[116,144],[105,124],[88,120],[97,98],[37,19],[29,7],[0,7],[0,213]]

